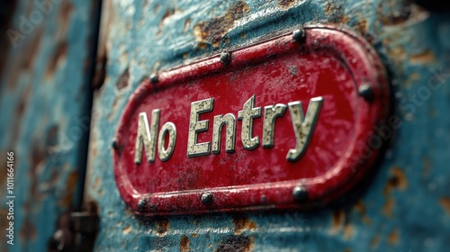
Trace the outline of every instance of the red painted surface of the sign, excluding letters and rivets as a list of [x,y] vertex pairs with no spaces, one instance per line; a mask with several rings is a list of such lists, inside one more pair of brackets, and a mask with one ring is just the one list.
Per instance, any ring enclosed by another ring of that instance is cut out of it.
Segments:
[[[211,57],[159,75],[157,85],[148,81],[130,97],[117,130],[114,172],[121,196],[139,212],[139,198],[147,196],[143,215],[201,213],[206,211],[248,211],[271,208],[299,208],[328,202],[346,192],[374,161],[374,155],[360,159],[363,146],[389,111],[388,85],[374,51],[349,31],[328,26],[306,27],[306,41],[293,42],[284,35],[257,45],[231,51],[232,61],[223,66]],[[375,99],[367,103],[357,86],[369,83]],[[201,115],[210,128],[198,142],[211,141],[214,115],[232,112],[238,117],[247,99],[256,94],[261,118],[254,120],[253,135],[262,140],[264,106],[301,101],[307,111],[312,97],[324,103],[306,153],[296,162],[286,160],[295,137],[289,111],[275,124],[275,147],[242,148],[242,121],[237,121],[236,151],[224,151],[222,131],[220,154],[187,157],[187,136],[191,103],[213,97],[212,112]],[[166,162],[156,158],[135,165],[134,146],[139,112],[161,110],[159,129],[166,121],[176,125],[173,156]],[[302,205],[293,200],[295,185],[308,189]],[[201,202],[211,191],[214,200]]]

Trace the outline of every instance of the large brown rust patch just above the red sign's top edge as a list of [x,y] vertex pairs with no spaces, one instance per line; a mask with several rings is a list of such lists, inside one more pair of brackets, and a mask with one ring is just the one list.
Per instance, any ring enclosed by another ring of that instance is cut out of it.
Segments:
[[211,44],[212,47],[220,46],[224,35],[231,30],[235,23],[247,14],[249,8],[242,1],[231,4],[227,14],[206,22],[199,22],[193,27],[193,35],[201,43]]

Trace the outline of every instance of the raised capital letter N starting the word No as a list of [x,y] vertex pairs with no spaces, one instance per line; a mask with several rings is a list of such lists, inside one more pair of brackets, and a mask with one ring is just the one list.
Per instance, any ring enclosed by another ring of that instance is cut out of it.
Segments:
[[145,147],[147,161],[155,162],[155,151],[157,149],[157,125],[159,124],[159,109],[151,112],[151,128],[148,127],[146,112],[139,112],[138,135],[134,153],[134,163],[139,165],[142,161],[142,148]]

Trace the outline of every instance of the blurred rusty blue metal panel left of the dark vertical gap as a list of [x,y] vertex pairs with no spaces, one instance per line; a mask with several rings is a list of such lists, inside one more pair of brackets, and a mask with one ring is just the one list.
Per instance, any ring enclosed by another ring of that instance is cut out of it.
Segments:
[[[0,250],[46,251],[58,216],[81,204],[98,2],[9,2],[0,58]],[[7,151],[14,151],[14,245],[5,236]]]

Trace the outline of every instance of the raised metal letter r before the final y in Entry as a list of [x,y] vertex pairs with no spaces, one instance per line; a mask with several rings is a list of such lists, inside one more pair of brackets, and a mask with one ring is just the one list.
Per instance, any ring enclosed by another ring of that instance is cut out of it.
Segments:
[[275,120],[286,112],[285,104],[276,104],[264,107],[263,147],[274,147]]

